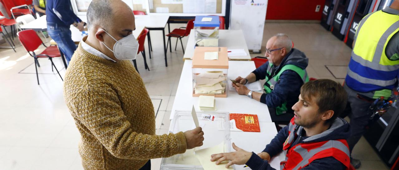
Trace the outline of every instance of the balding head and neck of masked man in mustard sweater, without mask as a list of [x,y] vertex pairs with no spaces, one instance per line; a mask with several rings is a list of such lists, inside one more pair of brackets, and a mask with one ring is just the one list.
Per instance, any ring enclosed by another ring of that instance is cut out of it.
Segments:
[[89,35],[83,41],[109,58],[115,43],[136,29],[130,7],[121,0],[93,0],[87,9]]

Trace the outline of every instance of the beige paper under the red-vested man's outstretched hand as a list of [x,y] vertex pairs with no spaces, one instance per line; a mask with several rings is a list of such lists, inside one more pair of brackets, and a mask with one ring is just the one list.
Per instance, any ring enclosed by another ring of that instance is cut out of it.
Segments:
[[[224,142],[216,145],[214,147],[209,147],[205,149],[201,149],[198,151],[194,151],[196,157],[198,158],[199,162],[201,162],[202,168],[204,170],[225,170],[227,161],[223,161],[220,164],[216,164],[216,162],[211,162],[211,155],[224,153]],[[228,169],[233,169],[231,166]]]

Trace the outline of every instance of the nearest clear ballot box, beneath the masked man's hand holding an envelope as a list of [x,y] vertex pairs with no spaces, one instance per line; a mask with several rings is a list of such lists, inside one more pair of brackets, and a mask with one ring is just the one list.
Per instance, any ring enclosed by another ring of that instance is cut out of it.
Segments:
[[[219,146],[223,152],[231,152],[229,112],[197,112],[199,126],[204,132],[201,147],[188,149],[186,153],[162,158],[161,170],[203,170],[194,151]],[[191,111],[176,110],[170,123],[170,133],[188,131],[195,128]],[[219,153],[219,151],[216,151]],[[209,160],[211,155],[209,155]]]

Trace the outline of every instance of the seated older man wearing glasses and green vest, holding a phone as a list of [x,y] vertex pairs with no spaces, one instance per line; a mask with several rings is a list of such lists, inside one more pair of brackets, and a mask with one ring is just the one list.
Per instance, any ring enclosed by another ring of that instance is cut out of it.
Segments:
[[[308,58],[298,49],[292,48],[292,41],[285,34],[277,34],[266,44],[265,57],[269,60],[247,77],[237,77],[233,87],[240,95],[247,95],[267,104],[270,116],[276,124],[288,124],[294,117],[291,107],[298,101],[300,87],[309,81],[306,73]],[[245,84],[266,79],[263,86],[266,93],[249,90]]]

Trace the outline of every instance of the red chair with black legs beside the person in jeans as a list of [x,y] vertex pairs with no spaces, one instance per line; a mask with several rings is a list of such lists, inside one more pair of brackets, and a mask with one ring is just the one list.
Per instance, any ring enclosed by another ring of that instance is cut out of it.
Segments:
[[[61,75],[59,74],[59,71],[57,70],[57,68],[55,67],[55,65],[53,63],[54,57],[61,56],[57,46],[49,46],[49,47],[45,46],[43,41],[41,41],[40,37],[32,29],[20,31],[17,33],[17,35],[18,35],[18,39],[20,39],[20,42],[25,47],[26,51],[28,51],[29,55],[32,56],[35,60],[36,78],[38,79],[38,85],[39,85],[38,66],[40,67],[38,58],[47,57],[51,61],[51,71],[53,71],[53,67],[54,67],[55,70],[57,71],[59,77],[61,77]],[[34,50],[38,49],[40,44],[43,44],[47,48],[40,54],[36,54],[34,52]],[[64,81],[62,79],[62,77],[61,77],[61,80]]]

